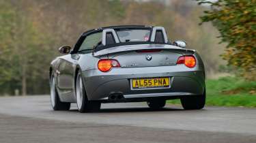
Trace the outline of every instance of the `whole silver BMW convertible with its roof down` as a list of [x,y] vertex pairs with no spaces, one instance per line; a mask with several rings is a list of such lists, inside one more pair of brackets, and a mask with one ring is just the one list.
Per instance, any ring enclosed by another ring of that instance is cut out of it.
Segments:
[[86,31],[59,48],[51,62],[53,110],[100,110],[103,103],[146,101],[150,108],[180,99],[185,110],[205,105],[205,69],[186,43],[171,43],[163,27],[114,26]]

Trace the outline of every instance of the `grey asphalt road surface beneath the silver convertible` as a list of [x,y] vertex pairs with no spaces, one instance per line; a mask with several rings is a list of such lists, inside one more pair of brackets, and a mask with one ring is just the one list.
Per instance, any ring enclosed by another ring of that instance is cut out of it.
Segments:
[[0,97],[0,142],[256,142],[255,108],[149,110],[103,104],[96,113],[53,111],[48,96]]

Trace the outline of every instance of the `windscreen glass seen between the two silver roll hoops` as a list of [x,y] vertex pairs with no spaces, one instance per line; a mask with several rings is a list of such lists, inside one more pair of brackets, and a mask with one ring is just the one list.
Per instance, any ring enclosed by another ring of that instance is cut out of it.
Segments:
[[120,42],[147,42],[150,40],[150,30],[128,29],[116,31]]

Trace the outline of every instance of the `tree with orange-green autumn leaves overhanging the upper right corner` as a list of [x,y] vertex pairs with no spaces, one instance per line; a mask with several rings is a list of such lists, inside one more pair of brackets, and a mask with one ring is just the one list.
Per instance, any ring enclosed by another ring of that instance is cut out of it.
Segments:
[[247,79],[256,79],[256,0],[197,0],[211,9],[201,16],[202,22],[212,22],[226,42],[223,59],[241,69]]

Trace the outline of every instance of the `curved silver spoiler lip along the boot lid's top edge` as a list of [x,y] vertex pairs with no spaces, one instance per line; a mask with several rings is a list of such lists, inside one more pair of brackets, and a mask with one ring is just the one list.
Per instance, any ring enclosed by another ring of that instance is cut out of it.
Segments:
[[193,49],[180,48],[173,45],[167,44],[138,44],[138,45],[126,45],[126,46],[115,46],[112,48],[106,48],[93,52],[94,57],[100,57],[106,54],[112,54],[115,52],[126,52],[132,50],[145,50],[145,49],[169,49],[169,50],[181,50],[183,52],[195,52]]

